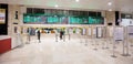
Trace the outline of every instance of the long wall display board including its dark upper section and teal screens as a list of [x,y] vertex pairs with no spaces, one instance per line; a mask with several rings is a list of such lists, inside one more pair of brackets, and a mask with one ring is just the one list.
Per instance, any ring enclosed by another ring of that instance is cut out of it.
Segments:
[[101,12],[33,9],[23,14],[27,24],[104,24]]

